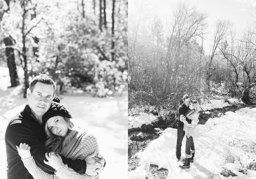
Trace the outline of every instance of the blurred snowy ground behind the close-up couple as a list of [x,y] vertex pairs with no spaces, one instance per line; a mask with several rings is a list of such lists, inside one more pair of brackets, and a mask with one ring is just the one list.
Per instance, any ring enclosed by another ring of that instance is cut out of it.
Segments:
[[[10,86],[9,71],[0,67],[0,178],[6,178],[6,151],[4,135],[9,121],[26,105],[27,99],[19,93],[20,87]],[[106,167],[100,178],[127,178],[127,111],[128,97],[92,98],[62,96],[61,102],[69,109],[74,121],[82,129],[95,134]]]

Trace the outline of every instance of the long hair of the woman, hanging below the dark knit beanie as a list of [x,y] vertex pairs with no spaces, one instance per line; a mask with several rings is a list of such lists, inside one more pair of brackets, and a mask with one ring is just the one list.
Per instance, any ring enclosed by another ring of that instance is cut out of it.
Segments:
[[[63,116],[60,116],[60,117],[61,117],[61,118],[65,121],[65,123],[68,125],[68,132],[67,132],[67,134],[68,134],[70,131],[72,131],[72,130],[77,131],[77,127],[74,125],[74,123],[73,123],[69,118],[66,118],[66,117],[63,117]],[[44,130],[45,130],[46,135],[47,135],[47,141],[44,142],[44,146],[46,147],[47,152],[50,152],[50,151],[51,151],[53,145],[58,145],[59,143],[62,143],[63,140],[65,139],[65,137],[54,135],[54,134],[52,133],[52,131],[48,129],[47,122],[46,122],[46,125],[45,125]]]

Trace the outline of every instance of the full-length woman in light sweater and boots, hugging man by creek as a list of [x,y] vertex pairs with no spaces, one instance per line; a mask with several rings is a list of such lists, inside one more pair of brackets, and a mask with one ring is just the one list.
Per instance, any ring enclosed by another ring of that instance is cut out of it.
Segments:
[[[190,110],[184,115],[180,116],[180,119],[184,123],[183,130],[185,131],[187,141],[186,141],[186,151],[185,158],[183,158],[184,164],[179,166],[182,169],[190,168],[190,162],[194,162],[194,140],[197,136],[197,123],[199,122],[199,104],[197,101],[191,101]],[[191,124],[188,124],[186,117],[191,121]]]

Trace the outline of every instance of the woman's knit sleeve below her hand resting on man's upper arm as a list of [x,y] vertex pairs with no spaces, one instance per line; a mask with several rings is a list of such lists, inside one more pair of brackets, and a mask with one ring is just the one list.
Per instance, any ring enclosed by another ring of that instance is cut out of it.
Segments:
[[21,159],[24,166],[28,170],[28,172],[33,176],[34,179],[51,179],[53,178],[53,175],[50,175],[46,172],[44,172],[41,168],[39,168],[34,161],[33,156],[26,159]]

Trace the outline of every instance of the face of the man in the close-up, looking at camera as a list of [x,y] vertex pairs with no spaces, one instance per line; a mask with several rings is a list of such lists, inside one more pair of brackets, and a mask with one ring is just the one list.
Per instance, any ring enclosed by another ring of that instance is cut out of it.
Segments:
[[32,114],[38,119],[50,108],[53,100],[53,85],[37,82],[33,92],[27,89],[28,105]]

